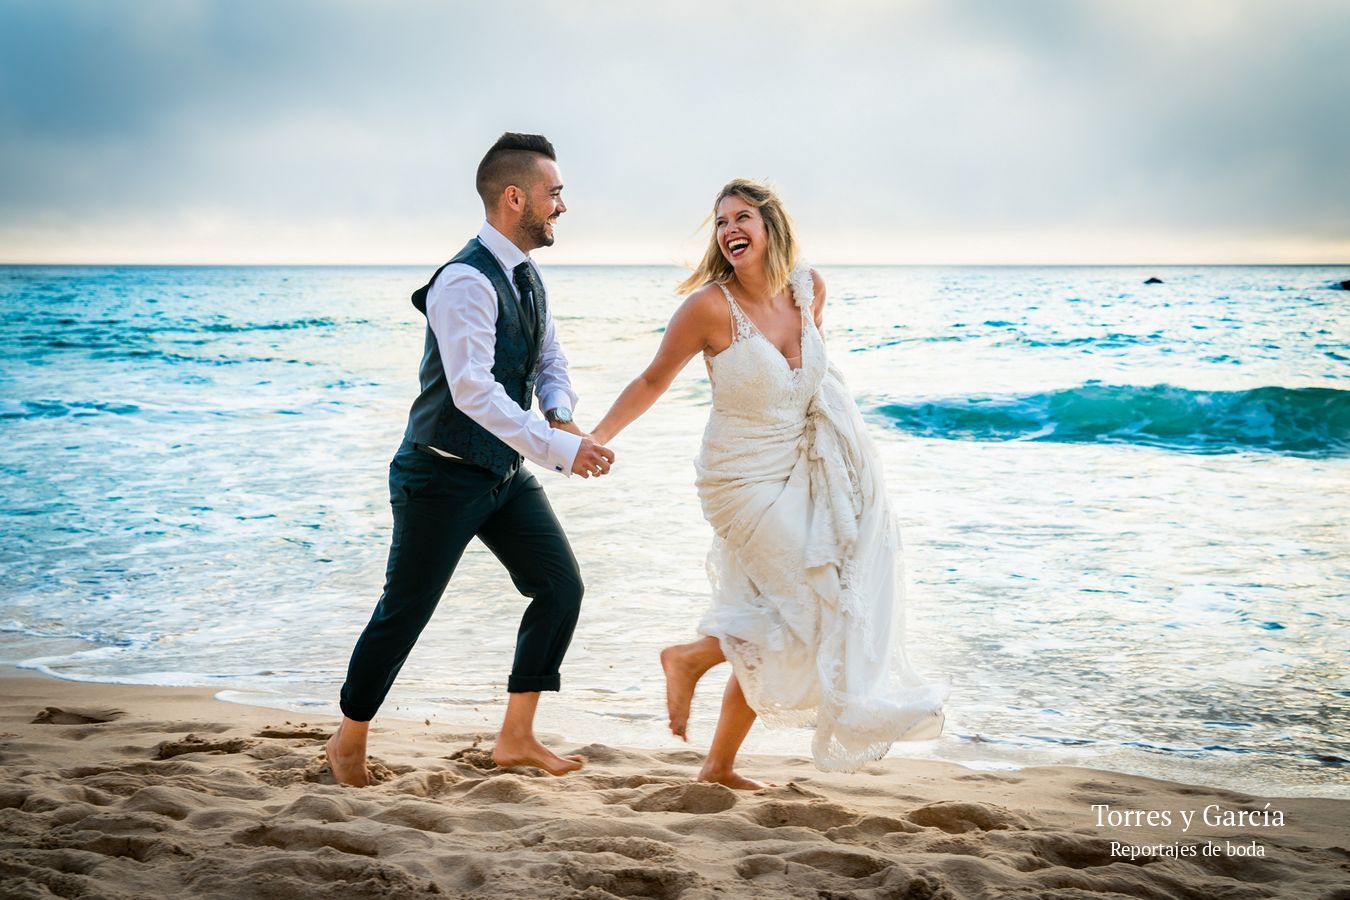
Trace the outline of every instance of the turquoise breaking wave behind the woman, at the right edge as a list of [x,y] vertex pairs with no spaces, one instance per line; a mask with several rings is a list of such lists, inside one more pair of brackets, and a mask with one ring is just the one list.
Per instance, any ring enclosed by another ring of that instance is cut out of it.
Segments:
[[911,434],[948,440],[1350,455],[1350,391],[1331,387],[1203,391],[1088,382],[1037,394],[887,403],[878,412]]

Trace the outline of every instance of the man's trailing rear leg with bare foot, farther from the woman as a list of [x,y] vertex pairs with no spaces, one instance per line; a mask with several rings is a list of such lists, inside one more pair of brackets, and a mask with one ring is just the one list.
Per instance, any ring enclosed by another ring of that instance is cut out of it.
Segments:
[[474,530],[491,509],[497,479],[401,448],[389,467],[394,533],[385,592],[362,631],[342,688],[343,722],[325,748],[333,779],[364,787],[366,731],[417,637],[431,621]]

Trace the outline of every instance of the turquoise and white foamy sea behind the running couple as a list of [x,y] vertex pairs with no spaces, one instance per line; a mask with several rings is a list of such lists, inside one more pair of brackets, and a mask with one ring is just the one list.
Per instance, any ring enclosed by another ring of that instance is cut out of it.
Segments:
[[[0,664],[336,714],[432,269],[0,267]],[[683,273],[543,271],[589,426]],[[892,756],[1350,796],[1350,269],[819,271],[900,519],[909,652],[952,688],[945,734]],[[609,476],[539,472],[586,582],[539,721],[566,746],[686,746],[657,653],[707,603],[707,412],[695,359]],[[471,545],[382,715],[491,734],[524,603]]]

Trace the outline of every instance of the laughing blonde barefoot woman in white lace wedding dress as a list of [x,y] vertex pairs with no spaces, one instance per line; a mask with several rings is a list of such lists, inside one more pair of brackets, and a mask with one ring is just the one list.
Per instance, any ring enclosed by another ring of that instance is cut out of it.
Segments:
[[651,364],[591,433],[609,444],[703,354],[713,410],[695,483],[714,533],[711,604],[699,640],[662,652],[671,731],[686,738],[699,679],[726,661],[702,781],[764,787],[733,768],[756,716],[814,723],[815,764],[832,770],[937,737],[945,690],[905,657],[899,533],[882,467],[826,359],[825,282],[799,262],[771,188],[742,178],[722,188],[707,252],[679,286],[688,290]]

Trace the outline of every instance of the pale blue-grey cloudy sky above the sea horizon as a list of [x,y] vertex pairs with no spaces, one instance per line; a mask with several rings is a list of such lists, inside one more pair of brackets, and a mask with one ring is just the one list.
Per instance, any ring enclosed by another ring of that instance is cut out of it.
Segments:
[[1343,0],[3,0],[0,260],[432,263],[513,130],[545,262],[687,260],[734,175],[821,263],[1350,262],[1347,47]]

